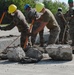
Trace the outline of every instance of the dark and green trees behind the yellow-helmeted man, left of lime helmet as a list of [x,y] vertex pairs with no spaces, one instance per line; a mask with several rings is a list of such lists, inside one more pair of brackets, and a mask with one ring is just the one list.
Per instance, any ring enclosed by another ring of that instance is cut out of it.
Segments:
[[[30,4],[32,7],[35,6],[34,0],[0,0],[0,18],[2,17],[3,12],[8,10],[10,4],[15,4],[23,13],[25,4]],[[10,21],[11,20],[4,17],[2,23],[10,23]]]

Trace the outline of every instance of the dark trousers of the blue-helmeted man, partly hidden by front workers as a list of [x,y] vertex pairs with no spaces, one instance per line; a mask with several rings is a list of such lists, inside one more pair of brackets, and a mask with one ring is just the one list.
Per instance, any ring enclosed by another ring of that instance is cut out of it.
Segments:
[[[40,22],[35,22],[35,24],[33,25],[33,28],[32,28],[32,32],[34,32],[39,26],[40,26]],[[43,45],[43,42],[44,42],[43,31],[44,31],[44,29],[39,32],[41,45]],[[32,45],[34,45],[34,43],[35,43],[36,36],[37,36],[37,34],[31,36]]]

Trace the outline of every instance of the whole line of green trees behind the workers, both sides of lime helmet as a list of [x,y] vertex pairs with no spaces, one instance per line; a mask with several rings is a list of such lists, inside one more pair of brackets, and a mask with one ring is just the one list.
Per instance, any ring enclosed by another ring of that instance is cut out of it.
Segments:
[[[0,18],[2,13],[7,11],[10,4],[15,4],[17,8],[24,13],[25,4],[30,4],[32,8],[35,8],[37,1],[39,2],[39,0],[0,0]],[[52,0],[43,0],[43,3],[45,4],[45,7],[50,9],[53,14],[57,12],[58,7],[62,7],[64,13],[68,10],[68,5],[65,3],[57,1],[53,2]]]

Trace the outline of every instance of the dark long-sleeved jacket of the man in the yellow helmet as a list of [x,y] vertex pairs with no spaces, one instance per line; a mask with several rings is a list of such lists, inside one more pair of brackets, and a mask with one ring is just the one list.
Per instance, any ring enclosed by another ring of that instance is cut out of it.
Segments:
[[6,26],[6,27],[2,27],[1,30],[11,30],[14,27],[18,28],[19,32],[27,32],[29,27],[28,27],[28,23],[25,19],[25,16],[22,14],[22,12],[20,10],[17,10],[12,22],[10,23],[10,25]]

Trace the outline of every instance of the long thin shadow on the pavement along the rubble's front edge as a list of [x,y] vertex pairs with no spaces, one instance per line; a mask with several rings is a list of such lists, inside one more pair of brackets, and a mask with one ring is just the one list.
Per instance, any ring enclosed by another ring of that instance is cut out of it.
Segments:
[[11,62],[11,61],[8,61],[8,60],[0,60],[0,64],[38,64],[38,65],[41,65],[41,64],[63,64],[63,63],[67,63],[67,62],[70,62],[70,61],[56,61],[56,60],[52,60],[52,59],[44,59],[44,60],[41,60],[37,63],[21,63],[21,62]]

